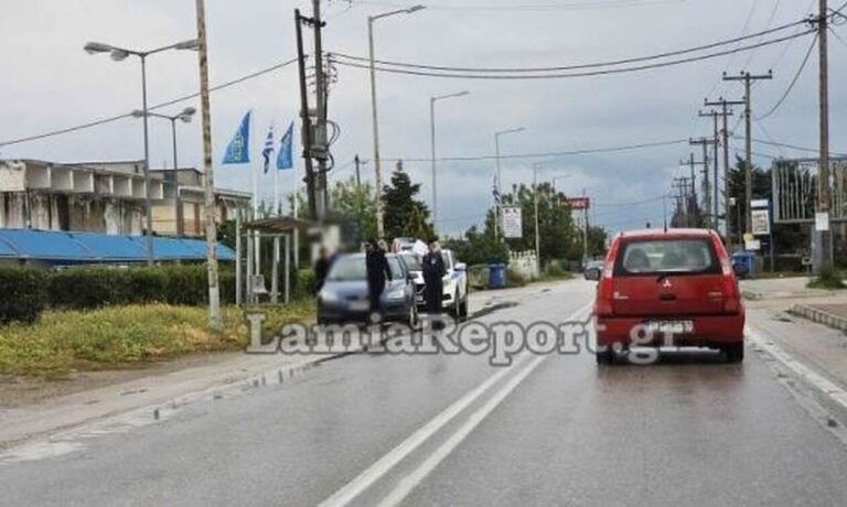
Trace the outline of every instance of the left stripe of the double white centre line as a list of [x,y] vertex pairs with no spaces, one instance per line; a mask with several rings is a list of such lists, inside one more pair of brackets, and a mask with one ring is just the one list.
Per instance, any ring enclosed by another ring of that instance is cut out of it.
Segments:
[[[585,305],[570,314],[566,321],[573,321],[578,315],[585,313],[588,311],[588,309],[591,305]],[[335,507],[335,506],[345,506],[353,501],[358,495],[361,495],[363,492],[365,492],[367,488],[373,486],[377,481],[379,481],[385,474],[387,474],[392,468],[394,468],[399,462],[401,462],[404,459],[406,459],[409,454],[415,452],[416,449],[418,449],[424,442],[429,440],[432,435],[435,435],[439,430],[441,430],[444,425],[447,425],[450,421],[452,421],[457,416],[459,416],[462,411],[464,411],[468,407],[473,404],[474,401],[476,401],[480,397],[482,397],[489,389],[491,389],[495,384],[497,384],[500,380],[502,380],[506,375],[515,370],[518,366],[521,366],[525,359],[526,355],[517,356],[512,364],[512,366],[504,368],[500,370],[498,373],[491,376],[487,380],[479,385],[476,388],[474,388],[472,391],[464,395],[462,398],[460,398],[458,401],[453,402],[450,407],[444,409],[441,413],[436,416],[432,420],[424,424],[420,429],[418,429],[415,433],[412,433],[408,439],[400,442],[399,445],[394,447],[393,450],[388,451],[387,454],[385,454],[383,457],[380,457],[376,463],[367,467],[364,472],[358,474],[353,481],[347,483],[345,486],[343,486],[341,489],[335,492],[332,496],[323,500],[321,504],[319,504],[319,507]],[[540,357],[543,359],[546,356]],[[539,360],[539,358],[536,358],[528,368],[535,369]],[[528,374],[527,374],[528,375]],[[515,378],[519,378],[523,380],[525,378],[525,375],[518,374]],[[512,386],[514,382],[514,379],[510,381],[503,390],[501,390],[497,395],[495,395],[494,398],[500,397],[503,395],[503,398],[508,395],[508,392],[514,389],[512,387],[511,389],[507,389],[510,386]],[[518,381],[519,384],[519,381]],[[517,386],[517,384],[515,384]],[[502,399],[500,400],[502,401]],[[497,401],[497,403],[500,403]],[[490,402],[489,402],[490,403]],[[487,407],[486,403],[484,407]],[[494,407],[491,408],[493,410]],[[491,411],[489,410],[489,411]],[[476,412],[478,414],[480,412]],[[474,414],[474,416],[475,416]],[[486,413],[487,414],[487,413]],[[484,418],[484,416],[483,416]],[[479,424],[479,422],[476,423]],[[476,425],[474,424],[474,427]],[[465,423],[467,425],[467,423]],[[462,427],[462,429],[465,428],[465,425]],[[472,430],[471,428],[470,430]],[[469,430],[469,432],[470,432]],[[461,430],[460,430],[461,431]],[[455,435],[453,435],[454,438]],[[451,438],[452,440],[452,438]],[[458,445],[459,442],[457,442]],[[439,449],[440,451],[440,449]],[[443,457],[442,457],[443,459]],[[430,457],[431,460],[431,457]],[[440,461],[440,460],[439,460]],[[427,460],[429,462],[429,460]]]

